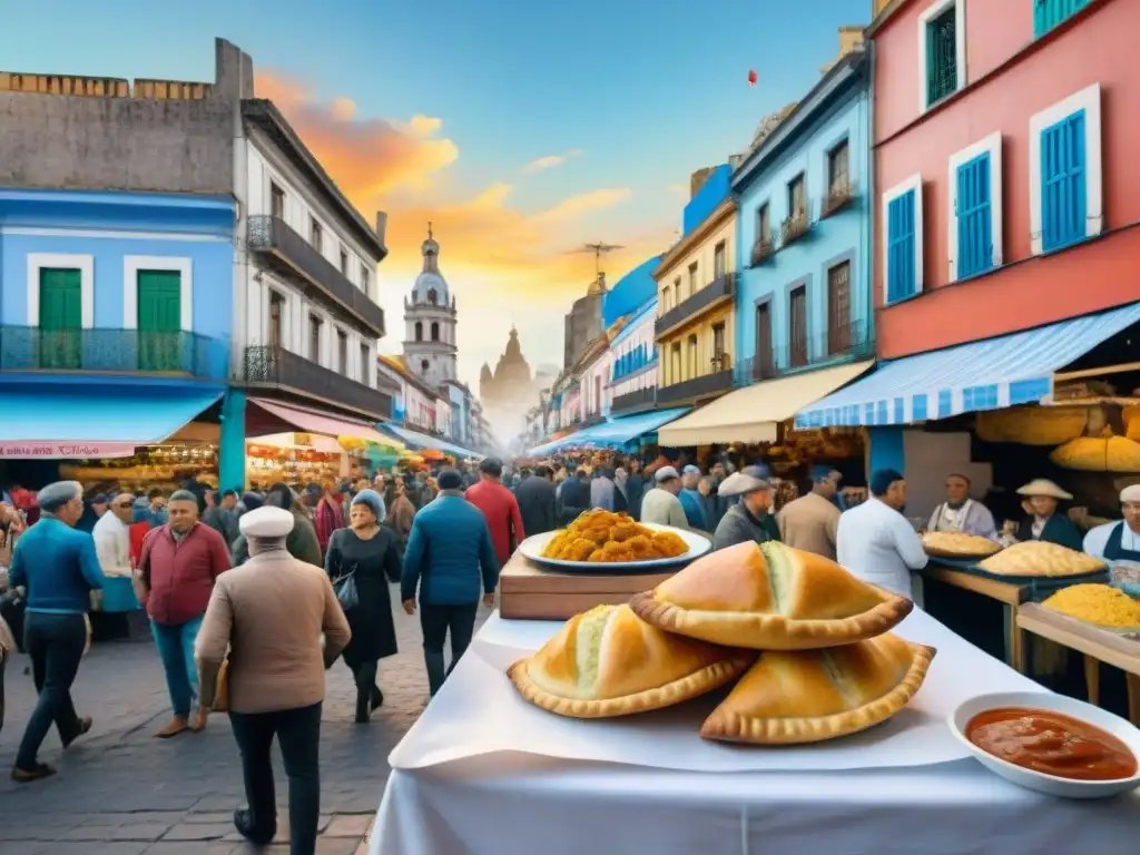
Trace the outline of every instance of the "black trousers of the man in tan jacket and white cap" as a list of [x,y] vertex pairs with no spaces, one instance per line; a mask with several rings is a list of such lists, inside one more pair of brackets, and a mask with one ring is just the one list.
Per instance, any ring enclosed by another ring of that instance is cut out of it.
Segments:
[[291,855],[314,855],[320,813],[320,703],[274,712],[234,712],[229,720],[242,752],[245,798],[253,832],[264,839],[277,831],[277,796],[270,751],[280,743],[288,776]]

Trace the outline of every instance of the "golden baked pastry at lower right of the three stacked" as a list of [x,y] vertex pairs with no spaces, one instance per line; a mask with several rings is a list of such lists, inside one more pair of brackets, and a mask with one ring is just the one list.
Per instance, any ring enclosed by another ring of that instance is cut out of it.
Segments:
[[922,686],[935,649],[897,635],[760,653],[701,726],[706,739],[821,742],[886,722]]

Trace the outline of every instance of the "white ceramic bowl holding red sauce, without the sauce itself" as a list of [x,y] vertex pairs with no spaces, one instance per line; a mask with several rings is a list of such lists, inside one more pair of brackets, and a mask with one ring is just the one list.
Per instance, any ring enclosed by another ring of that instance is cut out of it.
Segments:
[[997,773],[1007,781],[1016,783],[1018,787],[1024,787],[1027,790],[1043,792],[1047,796],[1059,796],[1069,799],[1108,798],[1109,796],[1116,796],[1140,787],[1140,771],[1132,775],[1132,777],[1119,779],[1117,781],[1073,781],[1068,777],[1057,777],[1056,775],[1047,775],[1023,766],[1016,766],[1012,763],[983,751],[966,738],[966,726],[979,712],[1000,707],[1044,709],[1072,716],[1113,734],[1127,746],[1138,758],[1140,758],[1140,730],[1137,730],[1119,716],[1115,716],[1100,707],[1093,707],[1091,703],[1085,703],[1064,694],[1053,694],[1052,692],[996,692],[994,694],[982,694],[977,698],[971,698],[961,703],[958,709],[947,716],[946,724],[950,725],[950,730],[958,736],[959,741],[970,750],[970,754],[983,766],[991,772]]

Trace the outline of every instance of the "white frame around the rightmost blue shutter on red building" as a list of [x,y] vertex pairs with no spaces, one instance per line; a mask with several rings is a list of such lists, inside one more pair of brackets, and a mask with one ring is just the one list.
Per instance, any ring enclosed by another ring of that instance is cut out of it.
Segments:
[[1029,116],[1029,239],[1032,253],[1044,252],[1041,225],[1041,135],[1064,119],[1084,111],[1085,238],[1105,229],[1102,138],[1100,136],[1100,83],[1093,83],[1065,100]]

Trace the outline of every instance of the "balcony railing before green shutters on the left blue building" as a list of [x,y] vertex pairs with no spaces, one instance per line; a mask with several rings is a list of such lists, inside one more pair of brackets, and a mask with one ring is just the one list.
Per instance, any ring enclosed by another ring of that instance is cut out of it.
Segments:
[[0,327],[0,370],[229,378],[229,342],[197,333]]

